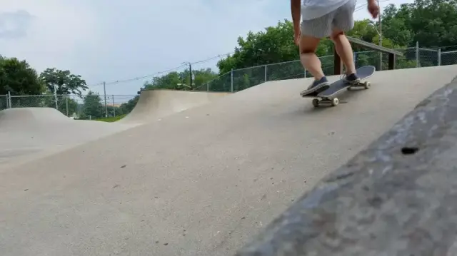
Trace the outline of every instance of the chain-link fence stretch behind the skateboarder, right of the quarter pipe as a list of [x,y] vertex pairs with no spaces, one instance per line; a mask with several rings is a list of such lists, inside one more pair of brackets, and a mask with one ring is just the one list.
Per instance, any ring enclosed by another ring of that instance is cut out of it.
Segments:
[[[396,69],[452,65],[457,63],[457,51],[442,52],[440,49],[418,47],[396,48],[395,50],[403,53],[403,56],[396,56]],[[323,72],[327,76],[333,75],[333,55],[321,56],[320,59]],[[388,53],[356,51],[354,52],[354,62],[356,63],[356,68],[371,65],[375,66],[378,71],[387,70]],[[303,70],[299,60],[286,61],[236,69],[205,83],[199,90],[236,92],[268,81],[306,77],[311,77],[311,73]]]

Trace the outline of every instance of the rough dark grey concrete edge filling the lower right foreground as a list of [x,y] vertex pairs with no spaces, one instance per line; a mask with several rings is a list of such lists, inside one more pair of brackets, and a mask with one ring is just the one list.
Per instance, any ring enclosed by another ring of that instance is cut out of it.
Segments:
[[236,255],[457,255],[456,142],[457,76]]

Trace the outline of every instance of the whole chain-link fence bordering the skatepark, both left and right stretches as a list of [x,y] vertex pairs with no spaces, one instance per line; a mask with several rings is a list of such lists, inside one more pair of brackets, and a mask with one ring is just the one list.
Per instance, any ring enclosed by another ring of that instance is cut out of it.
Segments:
[[[417,68],[457,64],[457,51],[443,52],[439,48],[397,48],[403,56],[396,56],[396,69]],[[321,56],[321,63],[326,75],[333,75],[333,55]],[[366,65],[376,70],[388,69],[388,54],[378,51],[354,52],[356,68]],[[278,81],[311,77],[304,71],[299,60],[273,63],[263,66],[236,69],[204,83],[196,91],[236,92],[267,81]],[[78,119],[94,119],[122,116],[129,113],[138,101],[138,95],[98,94],[74,95],[39,95],[39,96],[4,96],[0,95],[0,110],[4,108],[50,107],[64,115]]]

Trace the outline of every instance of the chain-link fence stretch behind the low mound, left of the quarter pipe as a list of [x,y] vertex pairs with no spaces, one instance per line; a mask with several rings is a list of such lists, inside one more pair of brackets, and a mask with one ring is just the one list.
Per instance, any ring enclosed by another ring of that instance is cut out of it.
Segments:
[[[139,96],[134,95],[32,95],[11,96],[11,108],[56,108],[65,116],[74,119],[97,119],[122,116],[129,113],[136,105]],[[8,97],[4,96],[6,106]],[[0,109],[3,97],[0,96]]]

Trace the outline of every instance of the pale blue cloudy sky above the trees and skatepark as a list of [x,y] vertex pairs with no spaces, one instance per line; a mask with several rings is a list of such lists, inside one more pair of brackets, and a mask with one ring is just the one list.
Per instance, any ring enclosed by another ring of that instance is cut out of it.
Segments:
[[[412,0],[383,1],[381,11],[406,2]],[[154,73],[224,56],[238,36],[291,20],[289,1],[276,0],[0,0],[0,6],[1,55],[25,59],[38,72],[69,70],[101,94],[106,81],[109,95],[135,95]],[[354,16],[371,19],[365,8]],[[217,71],[218,60],[193,68]],[[113,83],[131,78],[139,79]]]

